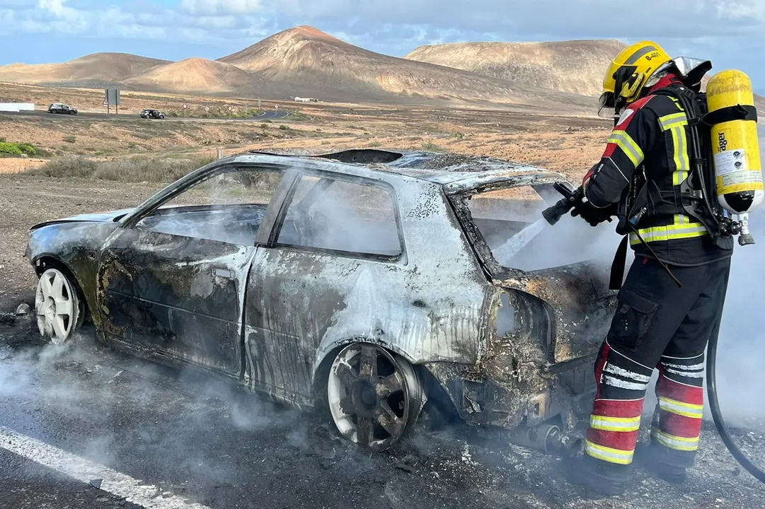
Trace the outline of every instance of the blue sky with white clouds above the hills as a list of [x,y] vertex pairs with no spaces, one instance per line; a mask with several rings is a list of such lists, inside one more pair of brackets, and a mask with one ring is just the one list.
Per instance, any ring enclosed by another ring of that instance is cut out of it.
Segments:
[[298,24],[396,57],[454,41],[653,39],[765,89],[765,0],[0,0],[0,64],[215,59]]

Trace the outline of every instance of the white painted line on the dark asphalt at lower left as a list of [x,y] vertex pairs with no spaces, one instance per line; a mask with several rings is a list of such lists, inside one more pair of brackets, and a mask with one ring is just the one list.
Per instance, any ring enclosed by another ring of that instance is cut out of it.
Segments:
[[[53,468],[85,483],[93,479],[103,479],[100,488],[103,491],[124,497],[133,504],[147,509],[210,509],[206,505],[187,502],[181,497],[161,491],[155,485],[140,484],[141,481],[122,474],[112,468],[88,459],[80,458],[69,452],[50,446],[31,436],[21,435],[0,426],[0,447],[33,462]],[[166,495],[164,498],[162,495]]]

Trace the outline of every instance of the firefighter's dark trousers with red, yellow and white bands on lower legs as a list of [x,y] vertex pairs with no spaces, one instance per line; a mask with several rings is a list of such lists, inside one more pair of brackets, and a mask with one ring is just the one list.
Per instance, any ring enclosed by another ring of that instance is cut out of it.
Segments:
[[718,331],[730,267],[730,257],[672,266],[679,287],[658,261],[635,258],[595,361],[597,395],[584,450],[601,460],[598,468],[627,475],[654,368],[659,402],[652,449],[658,444],[662,462],[672,467],[693,465],[702,429],[704,352]]

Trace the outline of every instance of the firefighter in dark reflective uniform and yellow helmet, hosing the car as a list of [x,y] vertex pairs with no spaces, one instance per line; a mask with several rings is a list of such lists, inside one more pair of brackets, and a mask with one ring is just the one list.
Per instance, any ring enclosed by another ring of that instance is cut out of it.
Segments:
[[[695,141],[674,91],[697,94],[711,68],[698,60],[688,72],[679,65],[688,61],[643,41],[610,64],[601,111],[619,116],[601,160],[583,179],[584,199],[571,212],[591,225],[617,216],[623,252],[629,242],[635,254],[595,362],[597,395],[584,455],[568,465],[572,481],[601,494],[623,492],[633,465],[682,483],[698,449],[704,352],[720,323],[733,240],[711,235],[714,222],[689,213],[681,199]],[[708,139],[695,139],[706,144],[696,154],[707,154]],[[635,455],[654,368],[651,439]]]

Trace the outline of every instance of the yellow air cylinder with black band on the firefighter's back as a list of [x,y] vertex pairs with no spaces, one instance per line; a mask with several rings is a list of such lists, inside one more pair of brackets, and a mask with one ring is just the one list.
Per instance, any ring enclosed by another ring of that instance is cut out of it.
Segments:
[[[710,118],[716,122],[711,126],[711,144],[718,202],[738,216],[739,244],[754,244],[748,212],[763,201],[763,174],[752,82],[740,70],[724,70],[711,77],[706,92]],[[732,118],[744,110],[750,118]]]

